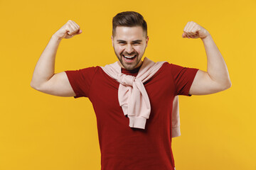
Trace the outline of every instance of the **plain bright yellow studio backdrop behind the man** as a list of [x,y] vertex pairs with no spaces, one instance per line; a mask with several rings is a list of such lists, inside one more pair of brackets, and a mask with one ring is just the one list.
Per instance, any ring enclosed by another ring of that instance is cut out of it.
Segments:
[[181,37],[194,21],[212,35],[232,81],[217,94],[179,97],[181,137],[172,143],[176,169],[255,170],[255,9],[255,0],[0,1],[0,169],[100,170],[92,104],[32,89],[33,69],[51,35],[68,20],[83,33],[60,42],[55,72],[117,61],[112,17],[137,11],[148,24],[144,57],[207,71],[202,40]]

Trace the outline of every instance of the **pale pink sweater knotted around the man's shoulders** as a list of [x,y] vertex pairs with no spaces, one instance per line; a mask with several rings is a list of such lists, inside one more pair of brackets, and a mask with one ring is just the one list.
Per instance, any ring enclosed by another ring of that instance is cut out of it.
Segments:
[[[127,115],[129,118],[130,128],[145,129],[146,119],[149,118],[151,106],[143,83],[153,77],[163,64],[164,62],[153,62],[145,57],[137,77],[123,74],[118,62],[101,67],[106,74],[119,82],[119,106],[122,107],[124,115]],[[178,96],[174,97],[171,131],[172,137],[181,135]]]

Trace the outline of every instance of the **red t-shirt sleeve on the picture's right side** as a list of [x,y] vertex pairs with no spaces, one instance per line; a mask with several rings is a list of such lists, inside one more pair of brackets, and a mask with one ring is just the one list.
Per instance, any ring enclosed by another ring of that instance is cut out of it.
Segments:
[[196,68],[182,67],[176,64],[171,64],[171,74],[174,77],[176,95],[192,96],[188,93],[198,70],[199,69]]

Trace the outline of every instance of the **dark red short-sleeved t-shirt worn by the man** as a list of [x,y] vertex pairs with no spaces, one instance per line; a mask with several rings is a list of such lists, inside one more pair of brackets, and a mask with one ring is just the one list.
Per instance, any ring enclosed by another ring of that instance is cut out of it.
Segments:
[[[137,76],[138,69],[122,73]],[[100,67],[65,71],[74,98],[88,97],[97,118],[102,170],[173,170],[171,111],[174,96],[188,94],[198,69],[164,63],[144,82],[151,104],[145,129],[130,128],[118,101],[119,82]]]

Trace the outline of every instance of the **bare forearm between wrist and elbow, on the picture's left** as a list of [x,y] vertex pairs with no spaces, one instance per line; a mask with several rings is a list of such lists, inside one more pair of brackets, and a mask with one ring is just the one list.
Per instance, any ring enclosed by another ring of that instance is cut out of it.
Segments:
[[44,82],[48,81],[50,77],[53,77],[55,69],[55,56],[59,44],[60,39],[53,35],[50,38],[45,50],[43,50],[38,62],[36,63],[31,80],[31,86],[38,87]]

